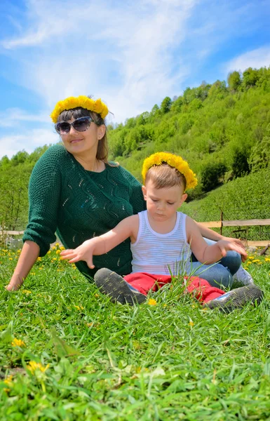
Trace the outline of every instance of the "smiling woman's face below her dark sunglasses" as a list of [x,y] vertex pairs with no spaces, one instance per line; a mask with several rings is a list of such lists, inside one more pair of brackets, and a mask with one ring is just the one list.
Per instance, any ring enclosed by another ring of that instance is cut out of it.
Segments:
[[[74,118],[67,120],[68,123],[73,123]],[[86,131],[76,131],[74,127],[70,127],[69,133],[61,135],[62,142],[65,148],[72,155],[85,154],[86,156],[97,155],[97,144],[100,139],[104,136],[106,128],[104,124],[97,126],[91,121],[90,126]]]

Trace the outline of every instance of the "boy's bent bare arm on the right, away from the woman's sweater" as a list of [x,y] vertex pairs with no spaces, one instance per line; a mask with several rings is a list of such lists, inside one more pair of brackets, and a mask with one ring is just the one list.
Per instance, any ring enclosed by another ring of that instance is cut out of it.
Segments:
[[208,246],[201,236],[201,232],[199,231],[196,222],[188,216],[186,227],[190,248],[199,262],[207,265],[218,262],[218,260],[227,255],[228,250],[237,251],[237,253],[240,253],[243,256],[243,259],[247,258],[245,249],[242,246],[238,246],[236,243],[220,240],[212,246]]

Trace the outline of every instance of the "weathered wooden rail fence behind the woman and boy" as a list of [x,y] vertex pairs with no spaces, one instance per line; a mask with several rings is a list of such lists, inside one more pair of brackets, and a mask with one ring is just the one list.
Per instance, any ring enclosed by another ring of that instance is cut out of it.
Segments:
[[[222,234],[223,227],[259,227],[270,225],[270,219],[255,219],[255,220],[234,220],[226,221],[223,220],[223,215],[221,213],[219,221],[209,221],[209,222],[200,222],[201,225],[207,228],[220,228],[220,234]],[[22,235],[23,231],[0,231],[0,235]],[[270,243],[269,240],[263,241],[250,241],[242,239],[245,246],[255,246],[255,247],[266,247]]]

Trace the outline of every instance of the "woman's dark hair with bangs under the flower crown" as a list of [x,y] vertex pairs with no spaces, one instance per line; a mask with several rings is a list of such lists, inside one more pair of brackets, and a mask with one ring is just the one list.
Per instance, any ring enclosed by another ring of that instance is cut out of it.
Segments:
[[[101,126],[102,124],[104,124],[104,126],[106,127],[104,119],[102,119],[102,116],[100,116],[100,114],[97,114],[96,112],[93,112],[93,111],[88,111],[88,109],[82,108],[82,107],[65,109],[65,111],[62,111],[59,114],[58,121],[68,121],[72,119],[72,117],[74,119],[79,119],[80,117],[86,117],[86,116],[92,117],[94,123],[97,124],[97,126]],[[98,159],[99,161],[106,162],[106,163],[108,162],[107,128],[106,128],[103,138],[101,138],[98,141],[96,159]]]

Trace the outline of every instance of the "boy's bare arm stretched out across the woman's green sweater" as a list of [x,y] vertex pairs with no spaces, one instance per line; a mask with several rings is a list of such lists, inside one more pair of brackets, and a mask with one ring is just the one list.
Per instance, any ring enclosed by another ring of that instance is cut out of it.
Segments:
[[93,269],[93,255],[102,255],[107,253],[112,248],[118,246],[124,240],[136,239],[139,228],[138,215],[132,215],[119,222],[111,231],[106,232],[93,239],[84,241],[81,246],[63,250],[60,254],[63,259],[69,260],[69,263],[79,262],[84,260],[90,269]]

